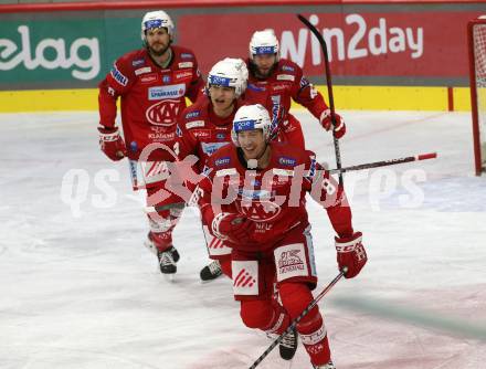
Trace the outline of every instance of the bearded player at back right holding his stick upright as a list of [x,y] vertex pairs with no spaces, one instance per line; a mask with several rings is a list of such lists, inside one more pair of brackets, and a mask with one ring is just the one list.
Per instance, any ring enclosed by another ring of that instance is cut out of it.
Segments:
[[[278,40],[273,30],[256,31],[250,41],[247,104],[262,104],[272,112],[273,130],[278,140],[305,147],[300,123],[288,114],[278,123],[275,115],[283,107],[288,113],[292,99],[305,106],[326,129],[332,128],[330,109],[323,95],[304,76],[303,70],[294,62],[279,57]],[[345,120],[336,115],[336,138],[346,133]],[[279,127],[275,127],[279,124]]]

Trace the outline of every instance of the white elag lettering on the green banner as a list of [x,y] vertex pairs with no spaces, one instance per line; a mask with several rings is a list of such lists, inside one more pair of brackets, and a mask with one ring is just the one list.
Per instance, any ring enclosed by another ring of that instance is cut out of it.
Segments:
[[[19,25],[20,40],[0,38],[0,71],[12,71],[23,65],[29,71],[70,70],[81,81],[95,78],[99,73],[99,41],[78,38],[68,42],[63,38],[43,38],[33,42],[28,25]],[[20,41],[20,42],[19,42]]]

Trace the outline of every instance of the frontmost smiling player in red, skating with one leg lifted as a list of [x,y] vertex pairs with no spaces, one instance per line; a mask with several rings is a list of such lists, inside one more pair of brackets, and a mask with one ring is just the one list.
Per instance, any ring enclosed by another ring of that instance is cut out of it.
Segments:
[[[209,158],[194,196],[213,235],[232,249],[233,292],[243,323],[279,335],[313,301],[317,283],[307,192],[327,210],[346,277],[359,274],[367,254],[342,188],[311,151],[270,141],[270,135],[266,109],[242,106],[234,117],[234,145]],[[272,298],[274,282],[282,304]],[[297,333],[315,368],[335,368],[317,306],[284,337],[282,358],[295,355]]]

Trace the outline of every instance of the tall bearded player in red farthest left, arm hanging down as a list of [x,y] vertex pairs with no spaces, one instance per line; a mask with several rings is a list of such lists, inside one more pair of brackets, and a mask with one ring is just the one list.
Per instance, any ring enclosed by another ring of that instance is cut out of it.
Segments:
[[[146,13],[144,49],[119,57],[99,84],[101,149],[115,161],[128,157],[134,189],[147,189],[150,232],[145,244],[157,254],[165,274],[177,272],[179,253],[172,245],[172,230],[184,200],[158,191],[168,177],[167,162],[177,157],[177,118],[186,97],[196,102],[204,87],[194,54],[173,45],[173,33],[165,11]],[[123,137],[115,124],[118,97]]]

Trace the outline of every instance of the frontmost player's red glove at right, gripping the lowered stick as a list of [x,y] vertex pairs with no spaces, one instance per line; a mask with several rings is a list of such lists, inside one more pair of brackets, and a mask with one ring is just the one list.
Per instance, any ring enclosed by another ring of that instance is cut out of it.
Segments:
[[361,243],[361,232],[356,232],[350,238],[335,238],[335,240],[339,270],[342,271],[345,266],[348,268],[345,274],[346,278],[357,276],[368,261],[367,252]]

